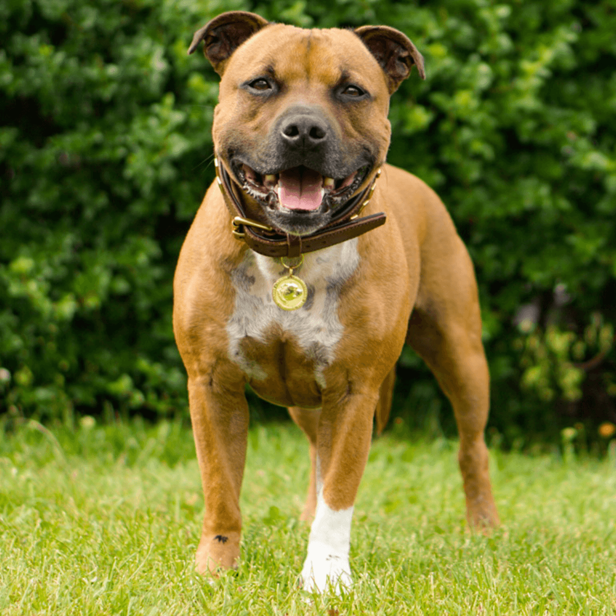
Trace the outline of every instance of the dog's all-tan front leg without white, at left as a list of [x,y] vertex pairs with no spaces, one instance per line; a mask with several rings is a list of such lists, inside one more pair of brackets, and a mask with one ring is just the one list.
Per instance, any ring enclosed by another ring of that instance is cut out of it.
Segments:
[[235,566],[240,554],[240,488],[246,460],[248,404],[243,383],[223,387],[215,376],[188,379],[188,401],[203,484],[205,517],[197,570]]

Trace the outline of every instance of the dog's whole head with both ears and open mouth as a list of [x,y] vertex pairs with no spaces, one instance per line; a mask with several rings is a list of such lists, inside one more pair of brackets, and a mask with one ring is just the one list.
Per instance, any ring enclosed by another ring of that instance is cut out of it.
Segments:
[[389,147],[389,97],[423,57],[387,26],[304,30],[241,11],[193,37],[221,75],[219,160],[277,229],[324,227],[371,182]]

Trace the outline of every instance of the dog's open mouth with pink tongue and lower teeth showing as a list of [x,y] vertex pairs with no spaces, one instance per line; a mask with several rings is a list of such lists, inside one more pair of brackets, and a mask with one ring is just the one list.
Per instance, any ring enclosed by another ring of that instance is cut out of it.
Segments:
[[322,176],[300,165],[278,173],[261,174],[245,163],[235,168],[244,190],[270,209],[314,212],[349,200],[368,174],[369,165],[342,178]]

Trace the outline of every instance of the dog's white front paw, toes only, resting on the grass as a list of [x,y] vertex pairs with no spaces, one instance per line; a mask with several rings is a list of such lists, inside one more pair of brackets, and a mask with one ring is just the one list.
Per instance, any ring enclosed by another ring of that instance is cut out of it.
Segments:
[[351,586],[349,557],[336,554],[330,546],[312,543],[302,567],[301,580],[304,590],[325,593],[328,587],[340,594],[343,587]]

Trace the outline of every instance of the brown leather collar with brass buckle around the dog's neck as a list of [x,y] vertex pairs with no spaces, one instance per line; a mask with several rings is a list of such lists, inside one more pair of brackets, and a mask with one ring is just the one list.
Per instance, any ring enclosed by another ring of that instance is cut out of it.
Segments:
[[328,248],[328,246],[351,240],[362,233],[376,229],[386,221],[383,212],[358,218],[372,197],[376,180],[381,175],[381,169],[376,172],[368,187],[342,206],[341,211],[330,224],[310,235],[299,236],[290,235],[280,229],[274,229],[274,227],[247,218],[241,198],[235,193],[237,188],[229,172],[224,165],[219,164],[216,156],[214,156],[214,166],[216,166],[218,187],[221,189],[225,205],[233,219],[233,236],[245,241],[256,253],[267,257],[298,257],[302,253]]

